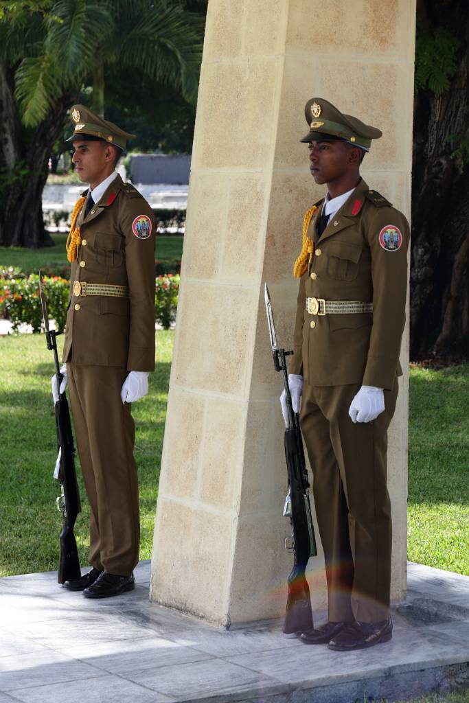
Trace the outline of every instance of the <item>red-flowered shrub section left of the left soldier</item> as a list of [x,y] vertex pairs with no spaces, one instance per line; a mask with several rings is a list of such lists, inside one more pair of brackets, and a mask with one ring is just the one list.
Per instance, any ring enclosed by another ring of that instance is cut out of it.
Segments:
[[[56,321],[56,329],[61,332],[67,318],[68,281],[59,276],[45,276],[43,280],[49,319]],[[31,325],[33,332],[41,331],[42,308],[37,274],[0,280],[0,316],[11,321],[14,331],[21,323]]]

